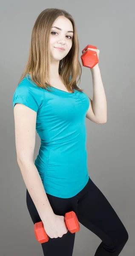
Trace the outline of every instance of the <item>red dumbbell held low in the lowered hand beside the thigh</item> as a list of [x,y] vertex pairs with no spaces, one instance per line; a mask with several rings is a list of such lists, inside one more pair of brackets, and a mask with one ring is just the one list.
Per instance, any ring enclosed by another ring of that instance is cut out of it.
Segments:
[[[76,233],[80,230],[78,218],[75,212],[73,211],[67,212],[65,214],[65,224],[71,233]],[[40,242],[40,244],[48,242],[49,236],[46,234],[46,231],[44,230],[42,221],[34,224],[34,233],[37,241]]]

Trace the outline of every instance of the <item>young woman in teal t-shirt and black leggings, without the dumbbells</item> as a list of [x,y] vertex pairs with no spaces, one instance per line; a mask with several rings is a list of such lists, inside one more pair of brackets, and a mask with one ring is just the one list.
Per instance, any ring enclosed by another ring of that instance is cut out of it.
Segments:
[[[62,9],[43,10],[34,24],[28,62],[13,96],[17,163],[32,221],[43,221],[49,236],[41,244],[45,256],[72,256],[75,233],[64,221],[69,211],[102,240],[95,256],[118,256],[128,233],[87,169],[85,119],[106,122],[105,95],[101,85],[104,100],[99,110],[77,86],[82,72],[78,55],[72,16]],[[97,75],[101,84],[99,68],[95,70],[93,81]],[[34,162],[35,131],[41,144]]]

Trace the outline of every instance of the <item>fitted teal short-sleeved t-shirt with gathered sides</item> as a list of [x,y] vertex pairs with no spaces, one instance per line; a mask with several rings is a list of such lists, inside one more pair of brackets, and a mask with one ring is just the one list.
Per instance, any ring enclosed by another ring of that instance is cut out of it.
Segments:
[[17,86],[13,108],[21,103],[37,112],[41,144],[34,164],[46,193],[71,198],[89,180],[85,124],[89,97],[75,89],[68,93],[49,87],[49,92],[29,80],[25,77]]

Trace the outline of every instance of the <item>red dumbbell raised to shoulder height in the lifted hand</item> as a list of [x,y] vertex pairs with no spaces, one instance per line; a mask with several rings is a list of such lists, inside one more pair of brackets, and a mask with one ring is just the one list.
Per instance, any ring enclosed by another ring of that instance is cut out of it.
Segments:
[[96,51],[91,50],[98,49],[96,46],[88,44],[83,50],[80,56],[84,67],[93,68],[98,63],[98,55]]

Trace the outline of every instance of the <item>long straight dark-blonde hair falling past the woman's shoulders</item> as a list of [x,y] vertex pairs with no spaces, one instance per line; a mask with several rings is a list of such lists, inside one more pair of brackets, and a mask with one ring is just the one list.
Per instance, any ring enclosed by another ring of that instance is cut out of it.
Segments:
[[[68,12],[63,9],[56,8],[48,8],[43,10],[35,21],[32,29],[28,61],[18,84],[20,84],[25,77],[29,79],[30,76],[31,81],[37,84],[38,87],[47,90],[48,85],[51,85],[49,82],[49,37],[52,24],[59,16],[64,16],[72,22],[74,32],[72,48],[68,54],[62,60],[60,60],[60,78],[67,90],[72,90],[75,88],[76,90],[83,92],[83,89],[77,86],[77,82],[80,81],[82,68],[79,61],[79,41],[75,21]],[[76,81],[78,76],[79,79]]]

